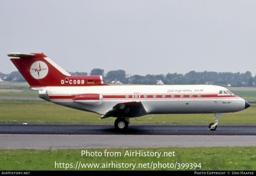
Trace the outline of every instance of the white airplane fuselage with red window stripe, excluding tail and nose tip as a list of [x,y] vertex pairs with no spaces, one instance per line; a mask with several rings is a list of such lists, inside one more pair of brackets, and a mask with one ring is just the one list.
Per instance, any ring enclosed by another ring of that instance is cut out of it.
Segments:
[[[227,93],[228,92],[228,93]],[[49,100],[83,111],[106,114],[116,104],[141,102],[147,114],[227,113],[245,109],[245,100],[215,85],[101,85],[39,88]],[[97,100],[74,100],[99,94]]]

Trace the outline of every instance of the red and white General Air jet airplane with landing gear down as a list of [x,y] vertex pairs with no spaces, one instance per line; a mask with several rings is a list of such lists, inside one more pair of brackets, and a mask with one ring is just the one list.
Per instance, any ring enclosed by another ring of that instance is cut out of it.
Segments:
[[147,114],[214,113],[215,131],[222,113],[250,107],[243,98],[217,85],[108,85],[99,76],[72,76],[43,53],[10,53],[10,60],[39,97],[49,102],[117,117],[115,129],[125,131],[131,117]]

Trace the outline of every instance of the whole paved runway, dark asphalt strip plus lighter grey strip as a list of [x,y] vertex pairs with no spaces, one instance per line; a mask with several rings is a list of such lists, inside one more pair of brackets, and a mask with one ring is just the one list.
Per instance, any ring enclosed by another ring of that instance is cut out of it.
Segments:
[[125,133],[113,125],[0,125],[0,133],[0,149],[256,146],[256,127],[236,125],[130,125]]

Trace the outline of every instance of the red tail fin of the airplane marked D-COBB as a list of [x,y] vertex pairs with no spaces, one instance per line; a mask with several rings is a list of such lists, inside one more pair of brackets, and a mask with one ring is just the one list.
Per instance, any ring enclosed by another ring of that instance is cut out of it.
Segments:
[[103,85],[102,76],[71,76],[43,53],[8,56],[31,87]]

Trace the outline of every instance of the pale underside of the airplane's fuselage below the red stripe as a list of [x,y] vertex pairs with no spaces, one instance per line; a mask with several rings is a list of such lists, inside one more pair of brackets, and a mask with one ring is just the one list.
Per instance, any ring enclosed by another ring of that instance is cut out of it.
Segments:
[[[127,100],[126,102],[129,102]],[[244,109],[244,100],[237,99],[179,99],[179,100],[143,100],[140,101],[147,114],[188,114],[188,113],[224,113],[237,112]],[[80,109],[83,111],[106,114],[118,103],[125,101],[102,101],[101,104],[84,104],[77,102],[55,102],[56,104]]]

